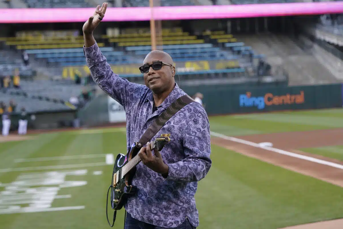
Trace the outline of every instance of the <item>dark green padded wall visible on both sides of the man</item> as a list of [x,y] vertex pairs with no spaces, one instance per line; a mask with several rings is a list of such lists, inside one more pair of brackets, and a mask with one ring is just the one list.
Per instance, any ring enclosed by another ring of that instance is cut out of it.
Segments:
[[[208,115],[255,113],[281,110],[302,110],[342,107],[343,85],[314,85],[288,87],[286,85],[203,85],[181,88],[190,96],[204,95]],[[107,94],[100,95],[79,111],[86,126],[125,122],[122,106]]]

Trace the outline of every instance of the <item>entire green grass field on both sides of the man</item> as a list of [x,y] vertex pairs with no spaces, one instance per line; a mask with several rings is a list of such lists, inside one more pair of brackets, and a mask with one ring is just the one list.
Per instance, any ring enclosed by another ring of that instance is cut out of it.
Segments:
[[[343,109],[216,116],[210,124],[211,131],[229,136],[328,129],[343,127]],[[342,146],[304,151],[343,160]],[[124,128],[1,143],[1,228],[109,227],[105,204],[113,165],[106,164],[106,154],[118,153],[126,153]],[[200,229],[275,229],[343,217],[341,187],[216,145],[211,158],[196,194]],[[29,212],[37,206],[49,211]],[[123,228],[123,213],[117,214],[116,228]]]

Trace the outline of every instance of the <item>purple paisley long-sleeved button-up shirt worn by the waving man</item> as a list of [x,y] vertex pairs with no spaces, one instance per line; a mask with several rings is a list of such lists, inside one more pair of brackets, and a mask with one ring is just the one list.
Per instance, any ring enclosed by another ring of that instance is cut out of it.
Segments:
[[[84,46],[84,53],[94,81],[125,109],[128,149],[159,114],[186,94],[175,84],[174,90],[152,113],[153,96],[149,88],[113,73],[96,43],[89,48]],[[212,164],[208,116],[198,102],[192,102],[171,117],[151,141],[164,133],[170,133],[171,140],[161,151],[163,161],[169,166],[167,178],[139,163],[132,181],[138,193],[124,207],[133,218],[156,226],[177,227],[187,217],[198,227],[194,195],[198,181]]]

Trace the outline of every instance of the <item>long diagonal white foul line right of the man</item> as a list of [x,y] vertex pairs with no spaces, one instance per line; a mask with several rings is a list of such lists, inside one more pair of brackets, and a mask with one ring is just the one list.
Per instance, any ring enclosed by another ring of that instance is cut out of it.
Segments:
[[299,158],[299,159],[303,159],[303,160],[306,160],[306,161],[312,161],[312,162],[315,162],[315,163],[328,165],[328,166],[331,166],[331,167],[334,167],[334,168],[337,168],[337,169],[343,169],[343,165],[341,165],[341,164],[337,164],[337,163],[333,163],[333,162],[329,162],[329,161],[324,161],[324,160],[321,160],[321,159],[312,158],[312,157],[301,155],[301,154],[297,154],[297,153],[288,152],[288,151],[285,151],[285,150],[282,150],[282,149],[276,149],[274,147],[268,147],[268,146],[263,146],[263,145],[261,146],[260,144],[257,144],[257,143],[252,142],[252,141],[246,141],[246,140],[239,139],[239,138],[229,137],[229,136],[226,136],[226,135],[223,135],[223,134],[219,134],[219,133],[215,133],[215,132],[212,132],[212,131],[211,131],[211,135],[213,135],[215,137],[218,137],[218,138],[225,139],[225,140],[238,142],[238,143],[241,143],[241,144],[244,144],[244,145],[248,145],[248,146],[253,146],[253,147],[256,147],[256,148],[261,148],[261,149],[269,150],[269,151],[272,151],[272,152],[275,152],[275,153],[284,154],[284,155],[287,155],[287,156],[290,156],[290,157]]

